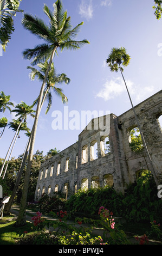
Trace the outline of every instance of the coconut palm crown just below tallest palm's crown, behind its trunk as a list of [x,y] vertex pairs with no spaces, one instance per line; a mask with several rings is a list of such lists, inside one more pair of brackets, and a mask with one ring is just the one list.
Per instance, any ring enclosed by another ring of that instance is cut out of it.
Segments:
[[[47,70],[47,67],[48,67],[48,61],[46,60],[46,62],[38,64],[38,67],[40,68],[40,71],[35,69],[35,68],[33,68],[33,67],[31,67],[31,66],[27,67],[28,69],[31,70],[30,79],[34,80],[35,77],[37,77],[38,80],[43,81],[44,80],[44,75],[46,74],[46,70]],[[51,107],[51,104],[52,104],[51,90],[53,90],[53,92],[57,96],[61,97],[61,100],[62,100],[63,103],[67,103],[68,102],[68,99],[63,94],[62,89],[61,88],[57,88],[55,86],[56,84],[61,84],[63,82],[68,84],[70,82],[70,79],[64,73],[62,73],[60,75],[57,75],[56,74],[56,70],[54,68],[54,64],[52,63],[51,67],[50,67],[50,70],[48,72],[47,86],[46,86],[46,88],[44,89],[44,92],[43,92],[43,99],[42,99],[42,105],[41,105],[41,108],[42,108],[44,100],[48,101],[48,106],[47,106],[47,109],[46,109],[46,114],[48,113],[48,111],[49,111],[49,109]],[[36,105],[37,102],[38,102],[38,97],[34,101],[33,105]],[[41,111],[41,109],[40,109],[40,111]]]

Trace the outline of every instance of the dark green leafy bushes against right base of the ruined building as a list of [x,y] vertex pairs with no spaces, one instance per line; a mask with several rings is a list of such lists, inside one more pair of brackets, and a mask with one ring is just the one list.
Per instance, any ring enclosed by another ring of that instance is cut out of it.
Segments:
[[114,188],[91,188],[79,190],[66,203],[68,211],[73,214],[98,215],[97,209],[102,205],[112,209],[114,216],[124,217],[132,222],[160,221],[162,212],[161,199],[157,197],[157,187],[150,172],[144,172],[137,182],[125,190],[125,194],[117,193]]

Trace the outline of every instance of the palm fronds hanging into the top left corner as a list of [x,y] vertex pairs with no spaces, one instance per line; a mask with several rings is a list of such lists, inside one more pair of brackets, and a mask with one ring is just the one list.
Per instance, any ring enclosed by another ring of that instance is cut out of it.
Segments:
[[14,32],[13,16],[16,16],[21,0],[0,0],[0,44],[3,50],[11,39]]

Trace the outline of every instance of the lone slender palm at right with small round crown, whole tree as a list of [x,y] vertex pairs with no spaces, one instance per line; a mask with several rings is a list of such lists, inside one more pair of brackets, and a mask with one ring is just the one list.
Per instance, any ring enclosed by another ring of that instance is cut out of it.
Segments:
[[139,124],[139,120],[138,120],[137,114],[135,112],[135,109],[134,109],[134,106],[133,106],[133,103],[132,103],[132,100],[131,100],[131,96],[130,96],[128,88],[127,88],[127,84],[126,84],[124,75],[122,74],[122,72],[124,71],[122,66],[127,66],[129,64],[130,58],[131,57],[127,54],[126,48],[124,48],[124,47],[115,48],[114,47],[114,48],[112,48],[111,53],[109,53],[109,56],[106,59],[106,63],[108,64],[108,66],[109,66],[109,68],[112,72],[113,71],[118,72],[119,69],[120,69],[120,72],[121,72],[121,75],[122,75],[122,78],[124,80],[126,90],[127,90],[128,96],[129,96],[129,100],[131,101],[131,105],[132,105],[132,109],[133,109],[133,112],[134,112],[135,120],[137,121],[137,125],[138,125],[139,132],[140,132],[140,135],[141,135],[142,143],[144,145],[144,149],[145,149],[146,154],[148,156],[148,161],[150,162],[150,170],[152,171],[155,183],[158,186],[159,181],[157,179],[157,176],[155,175],[155,171],[154,171],[154,168],[153,168],[151,156],[150,156],[150,153],[148,152],[147,145],[146,145],[146,142],[145,142],[145,138],[143,136],[141,126]]

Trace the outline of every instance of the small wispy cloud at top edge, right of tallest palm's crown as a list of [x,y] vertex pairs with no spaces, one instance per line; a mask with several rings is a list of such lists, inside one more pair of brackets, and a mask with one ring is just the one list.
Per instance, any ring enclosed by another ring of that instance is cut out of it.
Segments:
[[87,20],[92,19],[93,17],[93,5],[92,5],[92,0],[87,3],[87,1],[82,0],[81,4],[79,6],[79,14],[83,17],[86,18]]

